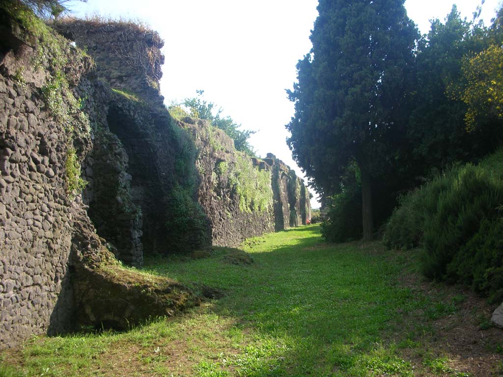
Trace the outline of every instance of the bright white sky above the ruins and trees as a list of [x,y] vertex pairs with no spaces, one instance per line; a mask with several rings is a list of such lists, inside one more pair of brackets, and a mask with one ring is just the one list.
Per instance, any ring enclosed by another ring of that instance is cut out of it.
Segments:
[[[444,20],[456,0],[406,0],[408,16],[422,33],[430,19]],[[499,0],[486,0],[488,25]],[[472,18],[480,0],[457,0],[462,17]],[[166,104],[195,97],[223,108],[250,138],[259,155],[272,152],[297,174],[301,169],[286,145],[285,124],[294,114],[285,89],[296,81],[295,65],[311,48],[317,0],[88,0],[72,2],[76,17],[100,15],[145,21],[165,45],[160,90]],[[315,193],[313,193],[315,194]],[[316,198],[313,208],[319,207]]]

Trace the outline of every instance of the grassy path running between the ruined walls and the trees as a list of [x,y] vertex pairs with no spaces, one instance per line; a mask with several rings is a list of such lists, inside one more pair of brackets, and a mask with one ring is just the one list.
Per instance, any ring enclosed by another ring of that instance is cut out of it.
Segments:
[[[221,299],[127,333],[34,338],[0,354],[9,365],[0,367],[0,375],[499,373],[503,337],[487,328],[487,313],[469,312],[467,294],[414,282],[406,254],[377,242],[323,243],[316,225],[251,239],[243,248],[253,264],[229,263],[223,250],[204,259],[146,262],[153,273],[215,288]],[[473,331],[486,334],[472,343],[471,360],[461,354],[462,346],[449,346],[459,338],[454,330],[462,321],[475,321]]]

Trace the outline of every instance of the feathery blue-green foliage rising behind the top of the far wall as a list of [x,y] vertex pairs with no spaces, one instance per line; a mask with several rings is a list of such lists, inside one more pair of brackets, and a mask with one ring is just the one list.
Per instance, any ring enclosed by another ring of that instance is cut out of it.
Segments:
[[[223,130],[227,136],[234,140],[234,147],[238,151],[247,153],[250,156],[255,155],[253,147],[249,144],[248,138],[254,134],[255,131],[239,130],[241,125],[236,124],[230,117],[222,115],[222,108],[216,108],[212,102],[207,102],[202,99],[204,90],[197,90],[198,97],[188,98],[184,101],[183,105],[190,110],[190,116],[194,118],[204,119],[210,122],[213,127]],[[173,111],[180,106],[174,105]],[[214,112],[216,110],[216,115]],[[177,110],[180,113],[180,110]]]

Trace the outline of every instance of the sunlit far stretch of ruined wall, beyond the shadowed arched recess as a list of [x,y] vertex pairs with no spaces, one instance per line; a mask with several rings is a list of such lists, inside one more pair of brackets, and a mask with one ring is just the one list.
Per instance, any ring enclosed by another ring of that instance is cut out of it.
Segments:
[[[210,219],[214,245],[238,246],[248,237],[310,221],[307,187],[274,154],[268,153],[265,159],[246,156],[235,150],[222,130],[206,121],[185,118],[180,126],[190,130],[199,151],[198,201]],[[253,198],[243,198],[247,177],[254,183]]]

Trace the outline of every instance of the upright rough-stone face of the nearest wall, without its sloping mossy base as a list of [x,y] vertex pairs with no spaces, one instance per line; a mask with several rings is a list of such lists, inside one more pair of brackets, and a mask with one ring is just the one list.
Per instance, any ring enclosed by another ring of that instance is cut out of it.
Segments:
[[[0,9],[4,25],[15,29]],[[27,40],[29,35],[12,34]],[[70,91],[54,89],[57,54],[76,69],[68,80],[91,68],[63,38],[46,49],[46,61],[33,61],[37,48],[12,49],[3,41],[0,56],[0,347],[31,333],[71,328],[68,279],[73,214],[78,199],[69,187],[69,159],[89,149],[89,125],[69,109]],[[50,101],[64,108],[51,111]],[[66,122],[61,122],[64,118]],[[71,122],[70,122],[71,121]],[[75,152],[76,151],[76,152]]]

